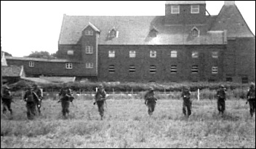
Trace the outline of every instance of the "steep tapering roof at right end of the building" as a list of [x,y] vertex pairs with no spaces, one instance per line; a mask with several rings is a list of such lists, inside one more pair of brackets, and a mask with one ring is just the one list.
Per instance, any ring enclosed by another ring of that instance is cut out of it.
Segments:
[[228,30],[228,38],[255,37],[235,4],[223,6],[211,30]]

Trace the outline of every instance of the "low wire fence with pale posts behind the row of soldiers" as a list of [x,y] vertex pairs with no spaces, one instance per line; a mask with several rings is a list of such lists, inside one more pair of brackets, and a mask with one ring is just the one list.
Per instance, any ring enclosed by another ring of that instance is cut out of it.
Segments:
[[[25,91],[20,90],[15,93],[12,93],[12,96],[15,99],[23,99]],[[44,99],[47,100],[58,100],[60,96],[57,91],[47,91],[43,92]],[[73,97],[77,100],[93,100],[95,98],[95,91],[81,91],[78,92],[73,91]],[[145,92],[134,92],[133,90],[127,92],[116,92],[113,90],[112,92],[107,92],[107,99],[113,100],[122,100],[122,99],[143,99]],[[158,99],[166,99],[166,100],[177,100],[181,99],[181,92],[159,92],[155,91],[155,96]],[[228,100],[239,100],[247,98],[247,90],[244,88],[236,89],[236,90],[227,90],[226,98]],[[217,91],[216,90],[197,90],[196,92],[191,92],[192,100],[216,100],[217,99]]]

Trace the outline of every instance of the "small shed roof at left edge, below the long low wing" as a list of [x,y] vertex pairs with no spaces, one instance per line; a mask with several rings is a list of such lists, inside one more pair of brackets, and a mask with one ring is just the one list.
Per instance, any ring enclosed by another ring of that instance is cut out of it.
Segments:
[[2,66],[1,74],[3,77],[21,77],[23,75],[23,66]]

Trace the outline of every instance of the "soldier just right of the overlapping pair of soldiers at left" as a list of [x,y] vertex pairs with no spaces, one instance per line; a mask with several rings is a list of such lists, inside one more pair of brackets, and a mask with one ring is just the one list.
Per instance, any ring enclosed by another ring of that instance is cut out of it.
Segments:
[[62,88],[60,90],[59,95],[61,96],[60,101],[61,107],[63,108],[62,113],[63,116],[66,117],[66,114],[69,114],[69,105],[70,102],[73,101],[73,97],[71,95],[71,89],[70,88]]

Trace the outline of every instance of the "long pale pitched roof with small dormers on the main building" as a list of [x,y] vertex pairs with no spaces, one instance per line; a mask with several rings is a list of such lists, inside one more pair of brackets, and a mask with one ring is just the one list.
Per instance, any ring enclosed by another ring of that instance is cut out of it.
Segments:
[[[99,45],[200,45],[224,44],[223,34],[207,33],[212,20],[208,17],[206,25],[196,27],[199,38],[191,38],[191,28],[195,25],[164,25],[164,16],[102,17],[102,16],[64,16],[59,44],[77,44],[84,26],[91,22],[100,30]],[[152,26],[159,31],[156,38],[148,38]],[[116,28],[119,38],[108,38],[109,31]]]

